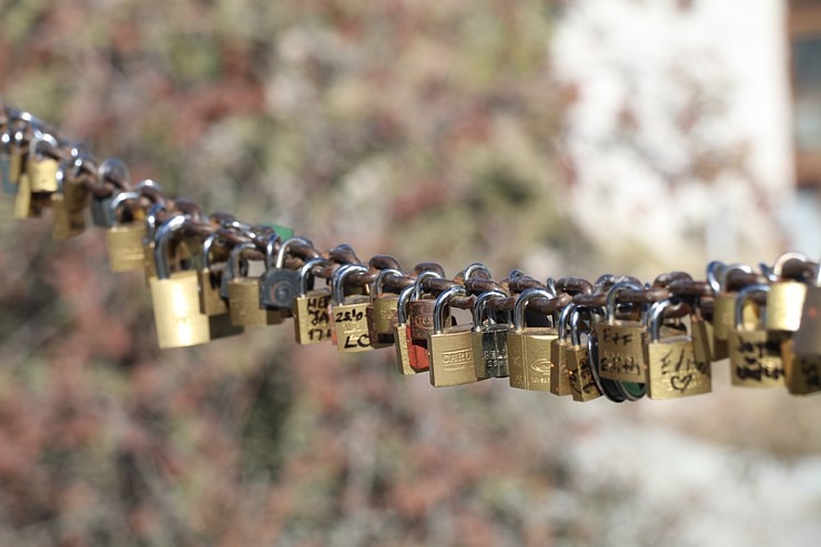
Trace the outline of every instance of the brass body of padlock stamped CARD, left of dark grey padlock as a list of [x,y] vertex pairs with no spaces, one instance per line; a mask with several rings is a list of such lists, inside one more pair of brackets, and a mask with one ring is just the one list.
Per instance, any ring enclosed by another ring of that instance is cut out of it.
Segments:
[[470,325],[453,326],[428,337],[430,385],[448,387],[477,382]]

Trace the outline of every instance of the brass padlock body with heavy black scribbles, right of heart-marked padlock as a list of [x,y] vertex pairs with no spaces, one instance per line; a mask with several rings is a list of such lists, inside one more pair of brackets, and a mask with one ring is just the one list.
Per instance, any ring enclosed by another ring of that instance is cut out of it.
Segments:
[[781,347],[779,341],[767,331],[731,331],[727,343],[732,385],[741,387],[784,385]]

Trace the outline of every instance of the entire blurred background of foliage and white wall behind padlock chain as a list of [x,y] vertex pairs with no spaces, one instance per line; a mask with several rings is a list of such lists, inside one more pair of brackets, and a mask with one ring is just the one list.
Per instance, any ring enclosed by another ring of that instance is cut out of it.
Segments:
[[[359,257],[637,275],[821,250],[821,1],[0,0],[0,97]],[[0,545],[818,545],[819,396],[433,389],[291,326],[159,351],[99,230],[0,203]]]

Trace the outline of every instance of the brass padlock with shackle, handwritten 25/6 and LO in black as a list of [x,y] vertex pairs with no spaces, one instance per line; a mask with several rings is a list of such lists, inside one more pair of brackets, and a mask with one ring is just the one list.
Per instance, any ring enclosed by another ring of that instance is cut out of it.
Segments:
[[367,273],[361,264],[343,264],[332,277],[331,315],[339,353],[366,352],[371,347],[365,310],[371,298],[364,294],[345,295],[345,278],[354,272]]

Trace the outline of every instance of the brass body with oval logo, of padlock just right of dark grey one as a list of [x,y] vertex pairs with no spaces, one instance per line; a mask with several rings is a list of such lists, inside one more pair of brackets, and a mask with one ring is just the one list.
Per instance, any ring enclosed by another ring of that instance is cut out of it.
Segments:
[[507,333],[510,387],[550,391],[550,344],[557,337],[556,330],[543,327]]

